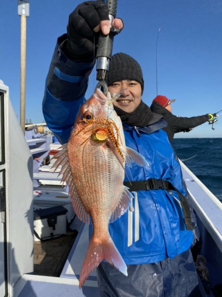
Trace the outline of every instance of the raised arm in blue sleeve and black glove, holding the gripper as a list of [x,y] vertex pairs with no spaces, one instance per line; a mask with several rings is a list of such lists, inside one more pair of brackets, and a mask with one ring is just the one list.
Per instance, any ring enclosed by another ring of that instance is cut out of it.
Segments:
[[[120,19],[113,26],[122,29]],[[79,4],[69,16],[67,34],[58,38],[46,78],[43,115],[61,143],[69,139],[88,78],[93,69],[96,44],[100,32],[109,34],[107,4],[102,0]]]

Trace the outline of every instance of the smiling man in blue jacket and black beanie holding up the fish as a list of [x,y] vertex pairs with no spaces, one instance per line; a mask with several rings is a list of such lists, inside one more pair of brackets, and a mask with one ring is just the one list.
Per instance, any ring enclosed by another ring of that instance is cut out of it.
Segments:
[[[94,66],[94,40],[100,29],[109,33],[108,19],[103,1],[83,2],[70,15],[68,34],[58,39],[46,80],[43,113],[61,143],[68,141],[85,100]],[[123,27],[119,19],[113,25]],[[135,199],[129,211],[110,224],[109,231],[127,264],[128,276],[102,262],[97,269],[101,297],[198,297],[189,250],[193,242],[189,196],[179,162],[161,129],[166,123],[141,100],[143,73],[131,56],[112,56],[107,84],[111,94],[125,89],[114,108],[123,122],[126,145],[141,153],[149,166],[133,164],[132,169],[125,169],[131,182],[126,178],[124,183]]]

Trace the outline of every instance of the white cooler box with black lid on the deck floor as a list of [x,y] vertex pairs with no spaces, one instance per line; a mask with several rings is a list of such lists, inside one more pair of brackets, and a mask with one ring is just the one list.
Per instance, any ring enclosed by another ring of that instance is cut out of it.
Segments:
[[34,211],[34,240],[52,239],[66,234],[67,212],[63,206]]

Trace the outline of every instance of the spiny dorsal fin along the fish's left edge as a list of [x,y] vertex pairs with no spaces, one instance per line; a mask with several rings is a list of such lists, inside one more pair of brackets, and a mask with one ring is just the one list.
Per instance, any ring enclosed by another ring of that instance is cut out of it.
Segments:
[[57,160],[53,164],[52,168],[55,168],[56,170],[59,166],[61,166],[61,171],[58,175],[63,174],[61,181],[65,181],[69,186],[69,192],[74,212],[82,222],[89,224],[89,213],[86,212],[84,206],[82,205],[74,186],[72,171],[69,164],[69,158],[67,153],[67,144],[64,144],[61,148],[62,150],[59,151],[54,157],[54,159]]

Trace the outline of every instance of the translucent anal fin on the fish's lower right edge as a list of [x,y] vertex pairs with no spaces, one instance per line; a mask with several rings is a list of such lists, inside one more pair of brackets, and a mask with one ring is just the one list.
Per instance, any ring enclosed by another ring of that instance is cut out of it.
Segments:
[[131,204],[131,199],[133,199],[133,195],[130,193],[127,187],[123,186],[122,196],[115,210],[111,214],[110,223],[114,222],[118,217],[128,210]]

